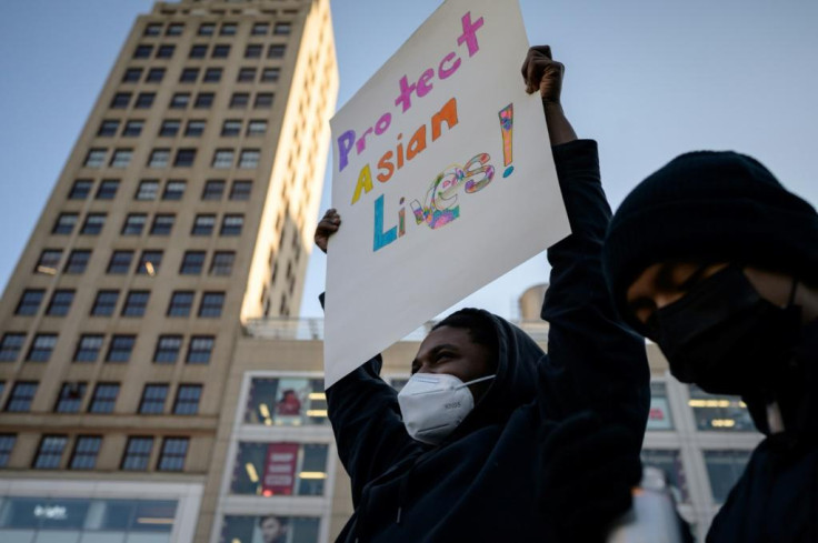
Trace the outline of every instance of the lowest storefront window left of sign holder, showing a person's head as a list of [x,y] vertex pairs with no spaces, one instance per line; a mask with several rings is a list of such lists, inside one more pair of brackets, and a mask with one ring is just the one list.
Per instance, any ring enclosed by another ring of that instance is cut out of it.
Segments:
[[319,527],[310,516],[226,516],[219,543],[318,543]]

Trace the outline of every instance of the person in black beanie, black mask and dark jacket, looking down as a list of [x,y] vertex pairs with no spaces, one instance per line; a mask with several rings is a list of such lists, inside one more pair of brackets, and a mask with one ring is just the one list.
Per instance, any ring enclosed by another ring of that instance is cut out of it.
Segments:
[[757,160],[682,154],[617,210],[606,279],[670,372],[740,394],[767,435],[711,543],[818,542],[818,215]]

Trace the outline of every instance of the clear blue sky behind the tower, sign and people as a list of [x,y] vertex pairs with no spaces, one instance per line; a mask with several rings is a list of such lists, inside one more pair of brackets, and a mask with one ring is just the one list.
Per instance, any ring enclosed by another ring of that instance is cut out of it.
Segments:
[[[26,0],[0,18],[0,284],[4,286],[109,70],[150,0]],[[342,105],[440,0],[333,0]],[[752,154],[818,204],[818,2],[521,0],[531,44],[567,66],[566,112],[599,142],[616,207],[650,172],[696,149]],[[520,56],[522,62],[525,51]],[[497,81],[497,84],[522,84]],[[329,207],[325,184],[320,213]],[[313,252],[301,314],[318,316]],[[517,316],[547,281],[545,257],[466,299]]]

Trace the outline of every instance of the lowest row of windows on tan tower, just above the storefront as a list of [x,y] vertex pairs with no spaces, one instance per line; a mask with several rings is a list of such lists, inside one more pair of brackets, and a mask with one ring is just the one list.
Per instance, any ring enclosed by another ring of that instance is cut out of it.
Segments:
[[[14,448],[17,435],[0,434],[0,467],[8,464]],[[34,470],[58,470],[62,465],[62,456],[68,449],[67,434],[47,434],[40,439],[37,453],[31,462]],[[157,460],[157,471],[182,471],[188,455],[188,438],[163,438]],[[78,435],[73,440],[73,450],[68,459],[69,470],[93,470],[97,456],[102,448],[101,435]],[[147,471],[153,450],[152,436],[130,436],[126,444],[120,469],[124,471]]]

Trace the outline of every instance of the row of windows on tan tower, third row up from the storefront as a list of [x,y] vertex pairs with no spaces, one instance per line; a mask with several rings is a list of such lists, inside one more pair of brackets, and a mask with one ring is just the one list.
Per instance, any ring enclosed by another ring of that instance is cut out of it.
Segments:
[[[57,345],[57,334],[36,334],[29,346],[27,361],[48,362]],[[104,349],[103,334],[82,334],[74,350],[74,362],[97,362]],[[183,344],[182,335],[160,335],[153,352],[153,362],[172,364],[180,358]],[[213,352],[216,340],[212,335],[192,335],[188,342],[184,362],[188,364],[207,364]],[[108,342],[104,361],[113,363],[130,362],[131,353],[137,343],[137,336],[131,334],[113,334]],[[26,344],[26,334],[8,332],[0,341],[0,362],[16,362]],[[0,392],[2,392],[0,390]]]

